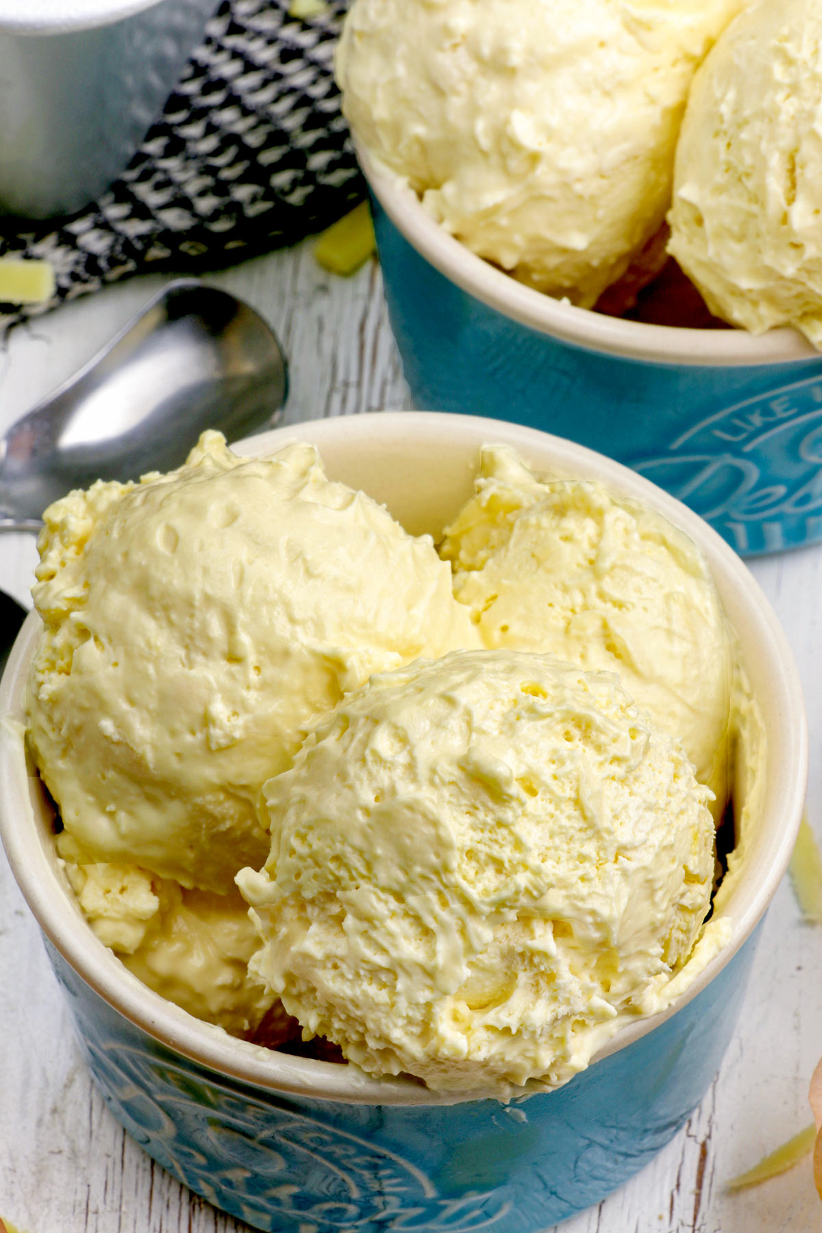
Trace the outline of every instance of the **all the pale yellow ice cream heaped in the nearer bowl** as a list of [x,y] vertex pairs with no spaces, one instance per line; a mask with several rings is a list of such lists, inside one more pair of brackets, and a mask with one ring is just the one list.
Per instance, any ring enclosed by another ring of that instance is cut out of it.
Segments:
[[686,753],[723,803],[732,644],[649,509],[487,448],[444,560],[313,448],[206,434],[58,502],[39,546],[58,852],[190,1014],[248,1036],[282,995],[366,1070],[504,1095],[568,1079],[722,944]]

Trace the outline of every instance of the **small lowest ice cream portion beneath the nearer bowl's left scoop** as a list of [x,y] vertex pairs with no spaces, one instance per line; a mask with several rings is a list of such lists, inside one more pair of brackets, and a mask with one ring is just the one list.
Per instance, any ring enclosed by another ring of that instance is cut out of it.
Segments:
[[237,890],[182,890],[133,864],[65,868],[100,941],[161,997],[233,1036],[270,1011],[274,997],[248,973],[259,935]]

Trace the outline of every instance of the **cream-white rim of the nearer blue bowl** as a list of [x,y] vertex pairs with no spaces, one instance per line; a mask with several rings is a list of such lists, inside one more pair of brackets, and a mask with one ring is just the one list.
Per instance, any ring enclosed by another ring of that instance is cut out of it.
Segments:
[[[776,708],[779,724],[774,726],[783,734],[781,762],[799,771],[799,774],[785,785],[785,792],[780,797],[780,813],[783,819],[792,819],[794,825],[787,825],[771,836],[768,846],[759,852],[749,878],[746,879],[744,891],[742,885],[737,887],[733,896],[737,901],[736,910],[731,916],[732,936],[726,946],[709,961],[702,972],[667,1010],[637,1018],[621,1028],[594,1055],[593,1065],[646,1036],[696,997],[738,953],[770,904],[787,869],[805,803],[807,725],[799,671],[776,615],[741,557],[693,510],[636,472],[601,454],[537,429],[445,412],[371,412],[345,417],[345,433],[350,444],[362,441],[365,445],[373,435],[377,419],[381,423],[383,439],[388,441],[393,439],[398,448],[402,446],[409,429],[413,432],[415,427],[434,425],[437,435],[449,441],[463,441],[465,429],[468,427],[482,440],[510,444],[525,451],[529,443],[542,450],[547,445],[556,466],[563,469],[566,473],[573,473],[574,469],[578,469],[584,472],[585,478],[601,480],[617,492],[646,501],[699,544],[717,577],[720,589],[725,581],[735,594],[742,597],[746,612],[752,624],[757,626],[757,640],[769,647],[770,662],[780,666],[780,672],[774,678],[779,694]],[[233,448],[235,453],[248,456],[267,454],[290,440],[308,440],[322,453],[323,440],[334,438],[341,423],[341,418],[307,420],[248,438]],[[471,448],[478,446],[471,443]],[[74,972],[110,1006],[160,1044],[216,1071],[217,1075],[228,1075],[254,1088],[315,1100],[365,1105],[451,1105],[489,1099],[483,1091],[465,1092],[458,1096],[439,1095],[405,1076],[375,1079],[352,1067],[291,1057],[229,1037],[221,1028],[205,1023],[168,1002],[123,967],[113,952],[89,928],[79,905],[71,901],[70,893],[49,862],[38,834],[28,832],[23,826],[15,826],[7,810],[7,800],[14,795],[28,799],[30,785],[26,767],[18,757],[18,737],[2,716],[11,715],[12,720],[18,720],[22,715],[28,661],[38,631],[39,619],[31,613],[23,623],[0,681],[0,783],[5,788],[0,795],[0,840],[5,846],[17,885],[37,924]],[[514,1091],[513,1095],[518,1092]]]

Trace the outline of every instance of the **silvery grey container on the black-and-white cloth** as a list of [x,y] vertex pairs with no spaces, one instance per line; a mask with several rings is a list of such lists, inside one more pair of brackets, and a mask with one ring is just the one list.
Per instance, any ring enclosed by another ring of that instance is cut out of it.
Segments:
[[216,0],[4,0],[0,212],[73,213],[128,164]]

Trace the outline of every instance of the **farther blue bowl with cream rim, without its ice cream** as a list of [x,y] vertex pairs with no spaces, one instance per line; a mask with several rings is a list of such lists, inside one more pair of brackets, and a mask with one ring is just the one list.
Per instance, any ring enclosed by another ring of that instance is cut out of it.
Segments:
[[360,158],[415,406],[600,450],[743,555],[822,539],[822,355],[800,334],[673,329],[560,303],[474,256]]

